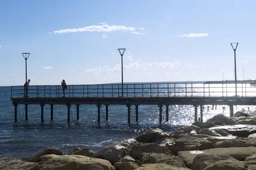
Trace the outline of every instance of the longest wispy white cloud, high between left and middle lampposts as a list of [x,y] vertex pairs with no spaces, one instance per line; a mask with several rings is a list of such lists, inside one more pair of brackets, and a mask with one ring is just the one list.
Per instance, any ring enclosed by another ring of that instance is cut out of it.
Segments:
[[102,26],[86,26],[84,28],[78,29],[61,29],[58,31],[54,31],[54,34],[62,34],[62,33],[69,33],[69,32],[112,32],[112,31],[134,31],[134,27],[126,27],[126,26],[108,26],[106,24]]

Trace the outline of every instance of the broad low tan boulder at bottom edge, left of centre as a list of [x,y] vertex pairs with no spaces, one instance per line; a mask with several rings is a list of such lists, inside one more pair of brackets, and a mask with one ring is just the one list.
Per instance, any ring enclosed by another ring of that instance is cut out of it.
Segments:
[[38,164],[40,170],[115,170],[107,160],[81,155],[45,155]]

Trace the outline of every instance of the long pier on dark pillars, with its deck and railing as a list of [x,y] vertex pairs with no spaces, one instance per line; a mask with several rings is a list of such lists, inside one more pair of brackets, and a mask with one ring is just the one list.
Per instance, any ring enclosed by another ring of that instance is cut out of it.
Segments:
[[[203,121],[204,105],[228,105],[230,116],[234,115],[234,105],[256,105],[256,88],[250,86],[255,82],[237,83],[172,83],[172,84],[96,84],[96,85],[68,85],[66,97],[62,97],[60,85],[29,86],[28,98],[24,96],[23,86],[11,86],[11,100],[15,107],[15,121],[17,121],[17,107],[25,105],[25,120],[28,120],[28,105],[41,106],[41,121],[44,122],[44,106],[51,106],[53,120],[54,105],[67,107],[67,121],[70,122],[70,106],[76,105],[76,120],[79,120],[80,105],[95,105],[98,108],[98,123],[100,110],[106,107],[106,121],[108,121],[109,105],[126,105],[128,123],[131,123],[131,106],[136,109],[136,121],[139,121],[138,107],[140,105],[156,105],[159,107],[159,123],[162,123],[162,108],[166,107],[166,121],[169,121],[170,105],[193,105],[195,107],[195,121]],[[123,96],[122,96],[123,92]],[[200,117],[198,118],[198,106]],[[208,107],[209,109],[209,107]]]

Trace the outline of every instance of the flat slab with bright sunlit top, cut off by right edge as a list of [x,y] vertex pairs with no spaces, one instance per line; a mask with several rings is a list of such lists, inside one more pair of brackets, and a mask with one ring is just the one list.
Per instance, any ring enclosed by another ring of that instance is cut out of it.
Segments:
[[230,133],[234,136],[247,138],[248,135],[256,133],[255,125],[245,125],[245,124],[237,124],[232,126],[221,126],[221,127],[211,127],[210,130],[225,130],[227,133]]

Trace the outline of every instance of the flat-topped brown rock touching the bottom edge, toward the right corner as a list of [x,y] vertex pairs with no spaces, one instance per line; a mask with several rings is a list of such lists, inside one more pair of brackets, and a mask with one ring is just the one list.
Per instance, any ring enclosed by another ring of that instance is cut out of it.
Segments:
[[198,155],[194,158],[191,169],[204,170],[205,167],[222,160],[237,161],[235,158],[231,156]]

